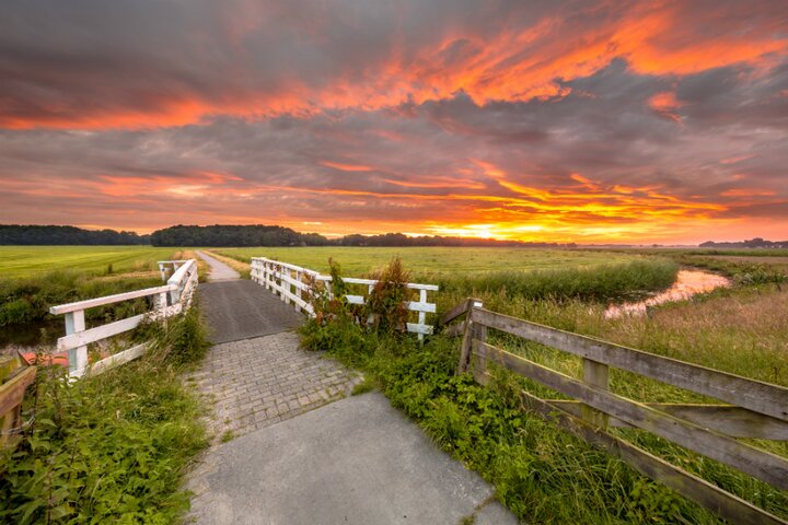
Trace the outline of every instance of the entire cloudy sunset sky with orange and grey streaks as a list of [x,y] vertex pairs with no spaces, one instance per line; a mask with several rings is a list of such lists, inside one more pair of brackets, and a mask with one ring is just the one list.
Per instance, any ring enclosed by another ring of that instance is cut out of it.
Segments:
[[0,223],[788,238],[776,1],[4,0]]

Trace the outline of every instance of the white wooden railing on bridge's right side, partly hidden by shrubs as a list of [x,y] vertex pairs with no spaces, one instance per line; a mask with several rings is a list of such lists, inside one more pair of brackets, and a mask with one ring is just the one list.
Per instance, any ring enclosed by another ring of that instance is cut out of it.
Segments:
[[[300,266],[289,265],[279,260],[268,259],[266,257],[252,258],[252,280],[258,284],[266,287],[279,294],[286,304],[293,304],[296,310],[304,312],[308,315],[314,315],[312,305],[306,301],[309,296],[309,284],[304,277],[311,276],[315,281],[331,281],[331,276],[321,275],[317,271]],[[367,287],[367,295],[347,294],[345,298],[350,304],[366,304],[369,293],[378,283],[374,279],[356,279],[352,277],[343,277],[343,281],[348,284],[359,284]],[[407,330],[418,334],[419,339],[424,339],[425,334],[432,334],[432,325],[427,324],[427,314],[436,313],[436,304],[427,301],[428,292],[437,292],[436,284],[418,284],[408,282],[407,288],[418,290],[419,300],[408,301],[407,308],[410,312],[418,313],[417,323],[407,323]]]

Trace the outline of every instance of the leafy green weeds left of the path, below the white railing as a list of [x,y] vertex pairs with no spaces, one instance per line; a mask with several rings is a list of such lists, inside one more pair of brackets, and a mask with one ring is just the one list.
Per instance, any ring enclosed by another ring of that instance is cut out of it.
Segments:
[[205,350],[197,311],[150,327],[158,346],[142,360],[69,383],[42,366],[14,451],[0,452],[0,522],[176,522],[188,509],[181,480],[207,446],[201,405],[181,366]]

